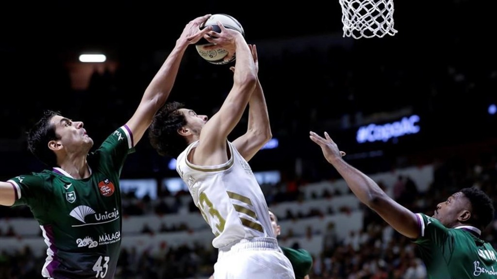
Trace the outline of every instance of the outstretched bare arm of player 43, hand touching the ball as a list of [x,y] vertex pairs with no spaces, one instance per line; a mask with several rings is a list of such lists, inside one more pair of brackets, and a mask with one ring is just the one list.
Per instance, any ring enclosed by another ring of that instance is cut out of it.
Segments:
[[208,26],[200,30],[200,25],[209,17],[210,14],[197,17],[186,24],[181,36],[176,40],[173,50],[145,90],[138,108],[126,123],[133,134],[135,144],[140,141],[152,123],[154,115],[165,104],[174,85],[186,47],[198,42],[204,34],[212,29],[211,26]]

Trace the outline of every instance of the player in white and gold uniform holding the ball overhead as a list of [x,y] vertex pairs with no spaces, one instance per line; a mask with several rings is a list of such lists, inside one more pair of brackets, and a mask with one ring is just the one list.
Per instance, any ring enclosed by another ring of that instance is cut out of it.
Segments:
[[[161,155],[177,157],[177,172],[215,235],[219,250],[215,279],[294,279],[290,261],[278,247],[267,204],[248,161],[271,138],[269,117],[257,78],[255,46],[226,29],[205,37],[236,51],[233,87],[219,111],[207,121],[178,102],[167,103],[149,130]],[[230,142],[228,135],[249,105],[248,130]]]

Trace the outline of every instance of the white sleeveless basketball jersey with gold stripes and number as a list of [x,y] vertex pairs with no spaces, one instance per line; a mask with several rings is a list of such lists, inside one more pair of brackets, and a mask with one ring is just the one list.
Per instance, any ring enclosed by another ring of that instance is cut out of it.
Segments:
[[195,141],[179,154],[176,171],[216,236],[212,245],[221,248],[243,238],[275,237],[264,195],[235,146],[228,142],[231,156],[226,163],[198,166],[187,159],[197,145]]

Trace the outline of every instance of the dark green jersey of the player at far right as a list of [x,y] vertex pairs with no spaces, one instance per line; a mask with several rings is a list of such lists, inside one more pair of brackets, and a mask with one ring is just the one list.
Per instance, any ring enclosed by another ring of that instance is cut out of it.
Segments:
[[437,219],[416,214],[420,249],[429,279],[496,279],[496,251],[472,226],[446,228]]

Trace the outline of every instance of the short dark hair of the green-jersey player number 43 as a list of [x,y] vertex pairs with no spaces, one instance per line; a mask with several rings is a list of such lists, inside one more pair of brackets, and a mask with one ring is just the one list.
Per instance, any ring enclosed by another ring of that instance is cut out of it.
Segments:
[[48,148],[50,140],[59,139],[55,134],[54,125],[50,123],[56,115],[61,114],[58,111],[45,110],[42,118],[27,133],[28,150],[49,167],[57,166],[57,156]]

